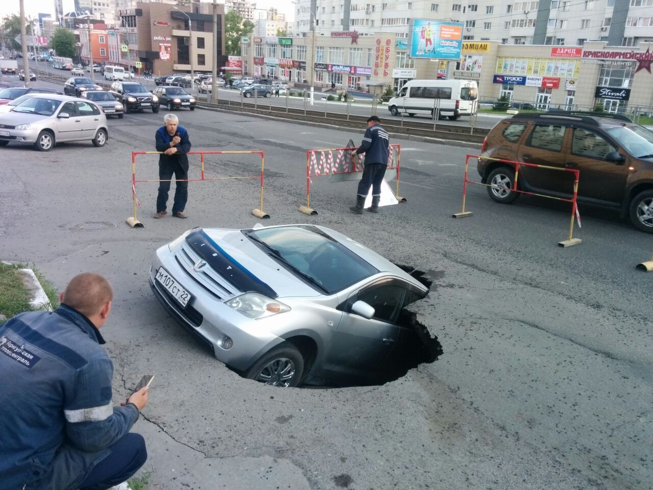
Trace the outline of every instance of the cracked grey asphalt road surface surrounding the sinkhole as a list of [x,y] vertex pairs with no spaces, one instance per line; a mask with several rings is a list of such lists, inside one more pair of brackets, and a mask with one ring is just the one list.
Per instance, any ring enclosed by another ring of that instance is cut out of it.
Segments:
[[[473,216],[453,220],[473,150],[406,140],[394,142],[407,203],[355,216],[356,182],[321,176],[311,184],[319,214],[305,216],[306,150],[358,142],[363,127],[176,112],[193,150],[265,152],[264,224],[332,227],[434,279],[412,309],[443,345],[435,363],[381,386],[266,387],[215,361],[148,287],[153,250],[186,229],[260,221],[257,180],[232,179],[191,183],[187,220],[153,220],[157,184],[138,184],[145,228],[125,224],[131,152],[153,150],[164,114],[110,120],[104,148],[0,148],[0,258],[34,263],[59,289],[85,270],[108,276],[114,401],[156,375],[134,429],[148,441],[152,488],[652,488],[653,276],[635,270],[650,235],[581,205],[582,244],[559,248],[567,204],[496,204],[479,186]],[[138,158],[137,177],[157,178],[156,155]],[[206,176],[253,176],[258,165],[207,157]]]

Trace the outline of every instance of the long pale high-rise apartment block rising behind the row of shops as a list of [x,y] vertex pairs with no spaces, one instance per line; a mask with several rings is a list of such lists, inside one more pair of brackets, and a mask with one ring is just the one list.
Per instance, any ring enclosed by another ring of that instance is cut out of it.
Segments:
[[639,46],[653,41],[653,0],[298,0],[294,32],[316,35],[383,30],[407,38],[411,20],[463,22],[466,41],[577,46],[605,41]]

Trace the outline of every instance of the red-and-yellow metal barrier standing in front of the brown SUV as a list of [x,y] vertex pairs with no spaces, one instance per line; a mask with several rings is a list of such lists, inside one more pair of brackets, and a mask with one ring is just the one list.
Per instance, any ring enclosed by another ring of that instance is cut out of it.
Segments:
[[[510,188],[510,191],[513,192],[518,192],[520,194],[528,194],[528,195],[535,195],[538,197],[546,197],[547,199],[554,199],[555,201],[565,201],[566,203],[571,203],[571,223],[569,223],[569,237],[567,240],[562,240],[562,242],[558,242],[558,245],[561,247],[570,247],[573,245],[578,245],[579,243],[582,242],[580,238],[573,238],[573,222],[574,218],[578,217],[578,223],[579,226],[581,225],[581,215],[579,214],[578,211],[578,206],[576,203],[576,199],[578,196],[578,180],[579,176],[581,174],[580,171],[573,170],[573,169],[562,169],[558,167],[550,167],[549,165],[537,165],[535,163],[524,163],[521,161],[511,161],[511,160],[505,160],[501,158],[490,158],[490,157],[482,157],[479,155],[465,155],[465,177],[464,177],[464,182],[462,184],[462,211],[459,213],[454,213],[452,216],[453,218],[465,218],[466,216],[471,216],[473,213],[471,211],[466,211],[465,210],[465,199],[467,196],[467,184],[479,184],[479,186],[485,186],[485,187],[492,187],[496,188],[498,186],[494,184],[483,184],[483,182],[475,182],[473,180],[468,180],[468,167],[470,164],[470,158],[478,158],[478,159],[485,159],[485,160],[490,160],[490,161],[500,161],[502,163],[507,163],[510,165],[515,166],[515,179],[513,181],[513,187]],[[518,182],[518,177],[519,177],[519,167],[532,167],[534,169],[547,169],[547,170],[552,170],[552,171],[559,171],[559,172],[569,172],[573,174],[574,176],[574,182],[573,182],[573,197],[571,199],[564,199],[562,197],[553,197],[550,195],[546,194],[538,194],[534,192],[527,192],[527,191],[522,191],[520,189],[517,189],[517,182]],[[504,186],[505,188],[505,186]],[[507,189],[507,188],[506,188]]]

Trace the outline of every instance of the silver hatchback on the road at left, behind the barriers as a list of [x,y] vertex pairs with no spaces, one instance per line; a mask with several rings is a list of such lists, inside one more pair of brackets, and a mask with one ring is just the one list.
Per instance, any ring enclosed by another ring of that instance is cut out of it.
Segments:
[[48,152],[57,142],[89,140],[104,146],[107,139],[102,110],[91,101],[67,95],[35,95],[0,114],[0,146],[27,143]]

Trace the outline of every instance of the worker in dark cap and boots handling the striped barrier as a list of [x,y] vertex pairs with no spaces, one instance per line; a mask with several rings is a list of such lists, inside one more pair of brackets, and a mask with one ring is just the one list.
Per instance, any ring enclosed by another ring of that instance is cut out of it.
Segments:
[[365,198],[372,186],[372,206],[370,211],[379,212],[379,201],[381,200],[381,182],[388,166],[390,139],[385,129],[381,127],[381,120],[378,116],[368,118],[368,127],[365,131],[362,143],[355,150],[356,155],[365,154],[363,176],[358,182],[356,195],[356,206],[350,209],[356,214],[362,214]]

